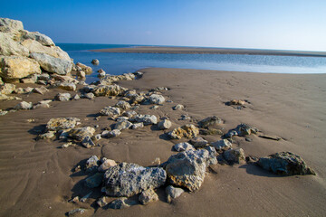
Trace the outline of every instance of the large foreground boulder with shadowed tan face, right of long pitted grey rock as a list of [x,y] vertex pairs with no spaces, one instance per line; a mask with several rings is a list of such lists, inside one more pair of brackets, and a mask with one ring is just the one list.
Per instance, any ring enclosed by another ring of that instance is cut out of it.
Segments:
[[199,149],[170,156],[164,167],[170,184],[185,187],[193,192],[203,184],[206,167],[211,164],[216,164],[215,154],[212,155],[206,149]]

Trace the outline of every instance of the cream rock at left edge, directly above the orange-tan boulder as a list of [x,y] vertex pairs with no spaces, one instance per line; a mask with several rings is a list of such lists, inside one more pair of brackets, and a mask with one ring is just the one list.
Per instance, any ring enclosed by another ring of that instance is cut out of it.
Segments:
[[21,43],[14,41],[14,34],[0,33],[0,55],[27,57],[29,52]]

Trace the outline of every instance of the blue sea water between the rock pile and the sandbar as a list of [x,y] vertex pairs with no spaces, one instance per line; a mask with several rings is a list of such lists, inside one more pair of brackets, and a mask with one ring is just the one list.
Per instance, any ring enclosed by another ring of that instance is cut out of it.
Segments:
[[[325,57],[206,53],[110,53],[91,52],[90,50],[139,45],[91,43],[57,43],[56,45],[68,52],[74,62],[80,61],[89,65],[93,71],[103,69],[111,75],[135,72],[149,67],[295,74],[326,73]],[[91,64],[93,59],[98,59],[100,65],[93,66]],[[97,73],[92,73],[87,78],[88,82],[95,80],[97,80]]]

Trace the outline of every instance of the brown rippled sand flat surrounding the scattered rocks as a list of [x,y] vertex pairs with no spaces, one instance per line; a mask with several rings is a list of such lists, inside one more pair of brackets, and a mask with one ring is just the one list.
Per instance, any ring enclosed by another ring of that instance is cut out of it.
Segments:
[[[120,137],[102,139],[101,147],[58,148],[60,141],[34,140],[38,130],[50,118],[76,117],[82,126],[112,122],[94,115],[117,99],[96,98],[53,102],[50,109],[17,111],[0,117],[0,215],[63,216],[72,209],[84,207],[82,216],[325,216],[326,215],[326,74],[294,75],[229,71],[197,71],[179,69],[145,69],[140,80],[123,81],[130,89],[149,90],[165,86],[166,102],[158,110],[141,106],[139,113],[168,116],[173,127],[188,123],[177,120],[182,114],[200,120],[216,115],[225,119],[224,132],[240,123],[258,127],[265,134],[282,137],[273,141],[243,137],[240,146],[246,155],[267,156],[278,151],[292,151],[311,165],[317,175],[282,177],[272,175],[254,165],[216,165],[207,173],[196,193],[183,193],[172,204],[166,203],[162,190],[159,201],[146,206],[134,205],[124,210],[94,209],[95,199],[73,204],[72,195],[89,193],[82,187],[85,175],[73,174],[72,168],[92,155],[106,156],[119,162],[150,165],[156,157],[161,161],[176,154],[171,150],[179,140],[166,140],[155,127],[125,130]],[[23,85],[23,84],[22,84]],[[24,84],[24,86],[26,86]],[[30,85],[29,85],[30,86]],[[26,101],[53,99],[57,91],[46,95],[19,95]],[[225,106],[230,99],[247,99],[245,109]],[[172,106],[181,103],[184,111]],[[0,109],[16,102],[1,102]],[[34,122],[26,120],[34,118]],[[205,137],[205,136],[204,136]],[[216,141],[219,136],[205,137]],[[181,140],[185,141],[185,140]],[[96,193],[91,198],[96,198]]]

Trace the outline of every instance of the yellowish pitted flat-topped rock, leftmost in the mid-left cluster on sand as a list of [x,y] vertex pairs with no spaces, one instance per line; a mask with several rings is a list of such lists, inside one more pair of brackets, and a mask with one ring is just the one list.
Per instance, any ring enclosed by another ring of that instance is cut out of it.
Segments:
[[79,118],[51,118],[47,124],[46,129],[48,131],[59,131],[62,129],[71,129],[78,125]]

